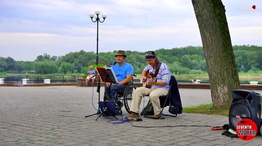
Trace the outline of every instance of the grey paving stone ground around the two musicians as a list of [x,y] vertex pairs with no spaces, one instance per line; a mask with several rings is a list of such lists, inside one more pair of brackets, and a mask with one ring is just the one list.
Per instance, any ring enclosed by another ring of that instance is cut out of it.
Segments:
[[[112,124],[105,117],[95,121],[98,115],[85,118],[96,113],[92,92],[96,107],[96,87],[0,87],[0,145],[262,145],[260,135],[244,141],[221,135],[223,130],[189,126],[222,126],[228,123],[224,116],[183,113],[132,122],[136,126],[178,126],[155,128]],[[183,107],[212,103],[209,89],[180,89],[180,94]]]

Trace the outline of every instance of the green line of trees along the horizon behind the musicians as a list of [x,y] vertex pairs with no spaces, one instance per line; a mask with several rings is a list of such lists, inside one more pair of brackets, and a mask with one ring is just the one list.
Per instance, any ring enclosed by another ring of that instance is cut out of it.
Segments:
[[[234,54],[239,72],[257,72],[262,70],[262,47],[256,45],[235,45]],[[99,53],[100,64],[115,61],[117,51]],[[186,46],[180,48],[155,51],[158,59],[166,63],[172,74],[204,74],[207,73],[206,60],[202,46]],[[135,74],[141,74],[147,65],[146,52],[126,51],[126,62],[134,66]],[[0,57],[0,72],[35,72],[38,74],[71,74],[85,73],[86,67],[96,64],[96,53],[69,53],[65,56],[40,55],[35,61],[15,61],[13,58]]]

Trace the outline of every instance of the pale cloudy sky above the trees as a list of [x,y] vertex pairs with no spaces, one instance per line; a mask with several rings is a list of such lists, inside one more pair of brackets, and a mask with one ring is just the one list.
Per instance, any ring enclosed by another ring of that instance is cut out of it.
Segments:
[[[262,46],[262,1],[222,2],[232,44]],[[202,46],[189,0],[0,0],[0,57],[96,53],[96,23],[88,16],[96,9],[108,15],[99,23],[99,52]]]

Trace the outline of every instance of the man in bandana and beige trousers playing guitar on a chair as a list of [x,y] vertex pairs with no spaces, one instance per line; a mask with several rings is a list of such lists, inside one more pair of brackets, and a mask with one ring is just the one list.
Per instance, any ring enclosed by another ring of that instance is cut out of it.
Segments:
[[[139,87],[135,90],[134,98],[130,107],[132,114],[127,117],[139,117],[141,100],[145,95],[149,94],[154,109],[153,118],[158,119],[161,112],[159,96],[168,94],[171,75],[168,66],[165,63],[159,62],[153,51],[147,52],[146,61],[148,66],[146,66],[142,71],[142,82],[146,82],[147,86],[151,86],[151,88]],[[157,80],[146,80],[147,72],[149,75],[151,74],[151,77],[155,77]]]

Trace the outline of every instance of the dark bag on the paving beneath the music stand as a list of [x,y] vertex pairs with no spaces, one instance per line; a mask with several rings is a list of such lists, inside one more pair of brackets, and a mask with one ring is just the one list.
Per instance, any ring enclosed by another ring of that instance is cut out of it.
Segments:
[[[121,102],[120,102],[121,105]],[[99,102],[99,107],[103,116],[118,116],[122,114],[121,108],[115,101],[106,101],[105,107],[107,110],[104,109],[104,101]]]

